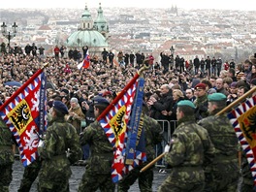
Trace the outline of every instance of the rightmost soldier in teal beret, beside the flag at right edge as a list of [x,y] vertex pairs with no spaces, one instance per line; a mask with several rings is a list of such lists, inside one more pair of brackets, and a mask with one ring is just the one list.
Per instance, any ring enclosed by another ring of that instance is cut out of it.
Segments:
[[198,122],[208,130],[216,148],[213,163],[205,168],[205,191],[234,192],[239,182],[238,138],[227,115],[215,115],[226,107],[226,102],[222,93],[208,95],[210,116]]

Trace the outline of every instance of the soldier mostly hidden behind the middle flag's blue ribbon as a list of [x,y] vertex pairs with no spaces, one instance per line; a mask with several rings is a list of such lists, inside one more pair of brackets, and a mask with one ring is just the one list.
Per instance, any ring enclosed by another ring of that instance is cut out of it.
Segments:
[[118,182],[118,191],[128,191],[130,186],[139,178],[139,187],[141,191],[152,191],[153,182],[153,166],[142,174],[140,171],[155,158],[155,145],[162,142],[162,128],[160,124],[153,118],[146,115],[148,112],[147,105],[144,103],[143,114],[141,121],[144,122],[144,137],[145,137],[145,151],[146,151],[146,162],[139,167],[133,169],[127,176]]

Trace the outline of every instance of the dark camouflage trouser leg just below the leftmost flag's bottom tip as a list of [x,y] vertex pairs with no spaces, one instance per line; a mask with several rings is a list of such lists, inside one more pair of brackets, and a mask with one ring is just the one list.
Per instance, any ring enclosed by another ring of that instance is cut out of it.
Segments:
[[40,158],[36,159],[30,165],[25,167],[23,178],[21,179],[20,186],[17,192],[29,191],[33,182],[37,178],[40,169],[41,169]]

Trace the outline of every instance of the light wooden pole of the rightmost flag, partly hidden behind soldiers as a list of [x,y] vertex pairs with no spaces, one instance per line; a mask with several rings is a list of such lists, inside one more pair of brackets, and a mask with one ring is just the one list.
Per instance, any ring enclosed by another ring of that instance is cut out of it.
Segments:
[[[215,115],[220,115],[224,112],[228,112],[230,109],[234,108],[235,106],[238,106],[241,101],[243,101],[246,97],[248,97],[249,95],[251,95],[255,91],[256,91],[256,86],[253,87],[252,89],[250,89],[249,91],[247,91],[239,99],[235,100],[234,102],[232,102],[230,105],[228,105],[226,108],[224,108],[222,111],[216,113]],[[153,159],[150,163],[148,163],[146,166],[144,166],[144,168],[140,171],[140,173],[143,173],[145,170],[147,170],[148,168],[153,166],[158,160],[162,159],[165,156],[165,154],[166,154],[166,152],[160,154],[155,159]]]

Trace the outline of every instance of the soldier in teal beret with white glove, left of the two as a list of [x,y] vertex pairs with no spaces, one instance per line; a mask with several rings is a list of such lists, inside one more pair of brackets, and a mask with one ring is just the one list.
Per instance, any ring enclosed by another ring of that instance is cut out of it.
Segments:
[[[172,167],[171,175],[159,192],[200,192],[204,190],[204,164],[214,157],[214,146],[208,131],[195,121],[195,106],[191,101],[177,103],[177,128],[171,140],[171,149],[165,147],[165,158]],[[169,151],[170,150],[170,151]]]

